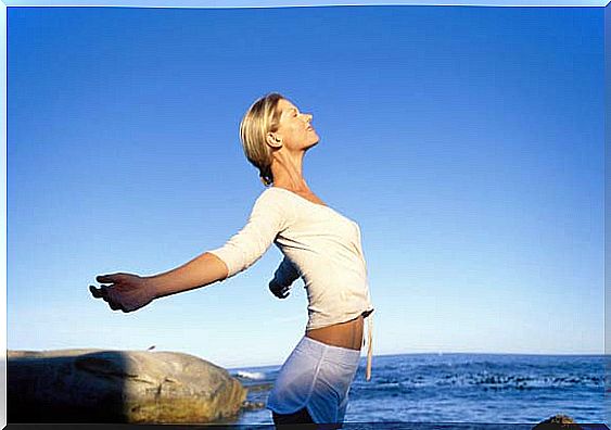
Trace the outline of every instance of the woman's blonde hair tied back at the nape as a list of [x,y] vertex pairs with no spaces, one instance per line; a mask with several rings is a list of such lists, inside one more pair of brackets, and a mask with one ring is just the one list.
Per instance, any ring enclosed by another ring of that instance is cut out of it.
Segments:
[[278,92],[270,92],[246,111],[240,123],[240,140],[246,159],[259,170],[262,182],[269,187],[273,184],[271,174],[271,148],[266,143],[266,135],[277,131],[280,122],[278,102],[285,99]]

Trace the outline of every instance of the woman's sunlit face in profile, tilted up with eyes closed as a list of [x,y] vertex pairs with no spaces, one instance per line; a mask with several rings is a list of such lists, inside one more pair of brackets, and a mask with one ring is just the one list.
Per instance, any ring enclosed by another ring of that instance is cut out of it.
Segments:
[[318,143],[319,137],[310,125],[311,115],[301,113],[289,100],[278,101],[280,111],[280,125],[276,136],[281,139],[282,146],[292,150],[306,150]]

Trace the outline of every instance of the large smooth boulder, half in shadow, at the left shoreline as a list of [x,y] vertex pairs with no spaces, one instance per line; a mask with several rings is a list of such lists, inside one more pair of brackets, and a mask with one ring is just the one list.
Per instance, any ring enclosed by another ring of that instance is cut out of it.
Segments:
[[246,392],[227,370],[175,352],[8,352],[9,422],[204,423]]

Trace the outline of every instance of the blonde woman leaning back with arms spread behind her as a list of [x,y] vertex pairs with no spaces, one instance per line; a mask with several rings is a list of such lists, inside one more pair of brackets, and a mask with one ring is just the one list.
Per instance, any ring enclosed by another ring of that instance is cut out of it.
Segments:
[[[91,293],[112,309],[136,311],[152,300],[222,281],[254,264],[272,242],[284,258],[269,282],[288,296],[301,277],[308,295],[306,333],[282,365],[267,408],[276,425],[344,421],[348,390],[372,312],[358,224],[324,204],[303,177],[303,157],[318,143],[311,115],[270,93],[249,109],[240,138],[266,187],[247,224],[221,248],[167,273],[97,277]],[[271,187],[270,187],[271,186]],[[371,318],[367,380],[371,371]]]

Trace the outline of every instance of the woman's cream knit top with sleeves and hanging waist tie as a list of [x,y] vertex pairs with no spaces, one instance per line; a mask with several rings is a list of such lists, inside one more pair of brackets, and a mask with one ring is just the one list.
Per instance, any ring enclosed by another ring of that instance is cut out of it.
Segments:
[[225,262],[230,278],[259,260],[272,242],[284,254],[276,281],[290,287],[298,277],[304,280],[306,330],[373,312],[358,224],[284,188],[265,189],[242,230],[208,252]]

